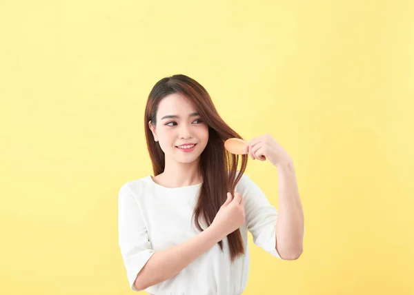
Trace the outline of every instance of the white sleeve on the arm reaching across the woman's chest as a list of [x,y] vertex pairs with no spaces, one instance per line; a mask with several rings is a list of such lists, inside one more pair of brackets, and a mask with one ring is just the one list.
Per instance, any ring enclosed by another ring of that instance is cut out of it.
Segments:
[[128,282],[132,290],[138,291],[134,286],[135,278],[155,251],[151,248],[146,226],[128,184],[119,190],[118,233]]

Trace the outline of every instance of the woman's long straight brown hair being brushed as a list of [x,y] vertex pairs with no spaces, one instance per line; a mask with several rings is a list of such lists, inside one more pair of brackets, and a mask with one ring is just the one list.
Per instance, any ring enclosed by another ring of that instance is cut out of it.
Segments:
[[[159,143],[155,142],[152,137],[148,122],[156,124],[159,102],[168,94],[173,93],[179,93],[190,99],[201,116],[201,120],[208,125],[208,143],[201,153],[199,164],[203,183],[193,214],[197,229],[203,231],[200,221],[204,221],[207,226],[213,223],[221,205],[226,201],[227,192],[233,194],[235,191],[236,184],[246,170],[248,157],[230,154],[224,149],[226,139],[232,137],[241,139],[242,137],[221,119],[210,95],[202,85],[190,77],[177,74],[158,81],[152,88],[146,104],[144,126],[155,176],[164,172],[165,157]],[[237,173],[238,167],[239,173]],[[245,251],[240,230],[237,229],[228,234],[227,238],[231,261],[234,261]],[[219,247],[223,250],[223,241],[219,241]]]

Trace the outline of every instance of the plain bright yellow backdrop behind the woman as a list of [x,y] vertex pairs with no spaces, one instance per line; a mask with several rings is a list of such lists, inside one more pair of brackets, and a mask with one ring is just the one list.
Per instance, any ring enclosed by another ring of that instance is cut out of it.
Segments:
[[[1,1],[0,294],[132,294],[117,193],[152,85],[187,74],[292,156],[304,253],[246,295],[414,294],[413,1]],[[277,172],[246,172],[277,206]],[[144,294],[144,292],[143,292]]]

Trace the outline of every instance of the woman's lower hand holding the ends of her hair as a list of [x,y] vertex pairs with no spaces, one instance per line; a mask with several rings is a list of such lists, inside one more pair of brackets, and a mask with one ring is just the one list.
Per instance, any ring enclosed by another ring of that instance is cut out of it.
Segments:
[[234,197],[228,192],[226,202],[221,205],[211,226],[227,236],[244,224],[244,218],[244,198],[238,192]]

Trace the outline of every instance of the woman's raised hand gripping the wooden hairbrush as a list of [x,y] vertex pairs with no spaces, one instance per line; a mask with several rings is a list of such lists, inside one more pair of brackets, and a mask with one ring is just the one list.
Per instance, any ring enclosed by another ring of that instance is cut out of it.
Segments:
[[282,145],[279,145],[270,134],[264,134],[248,141],[244,152],[248,152],[253,160],[266,161],[267,159],[275,166],[293,162]]

